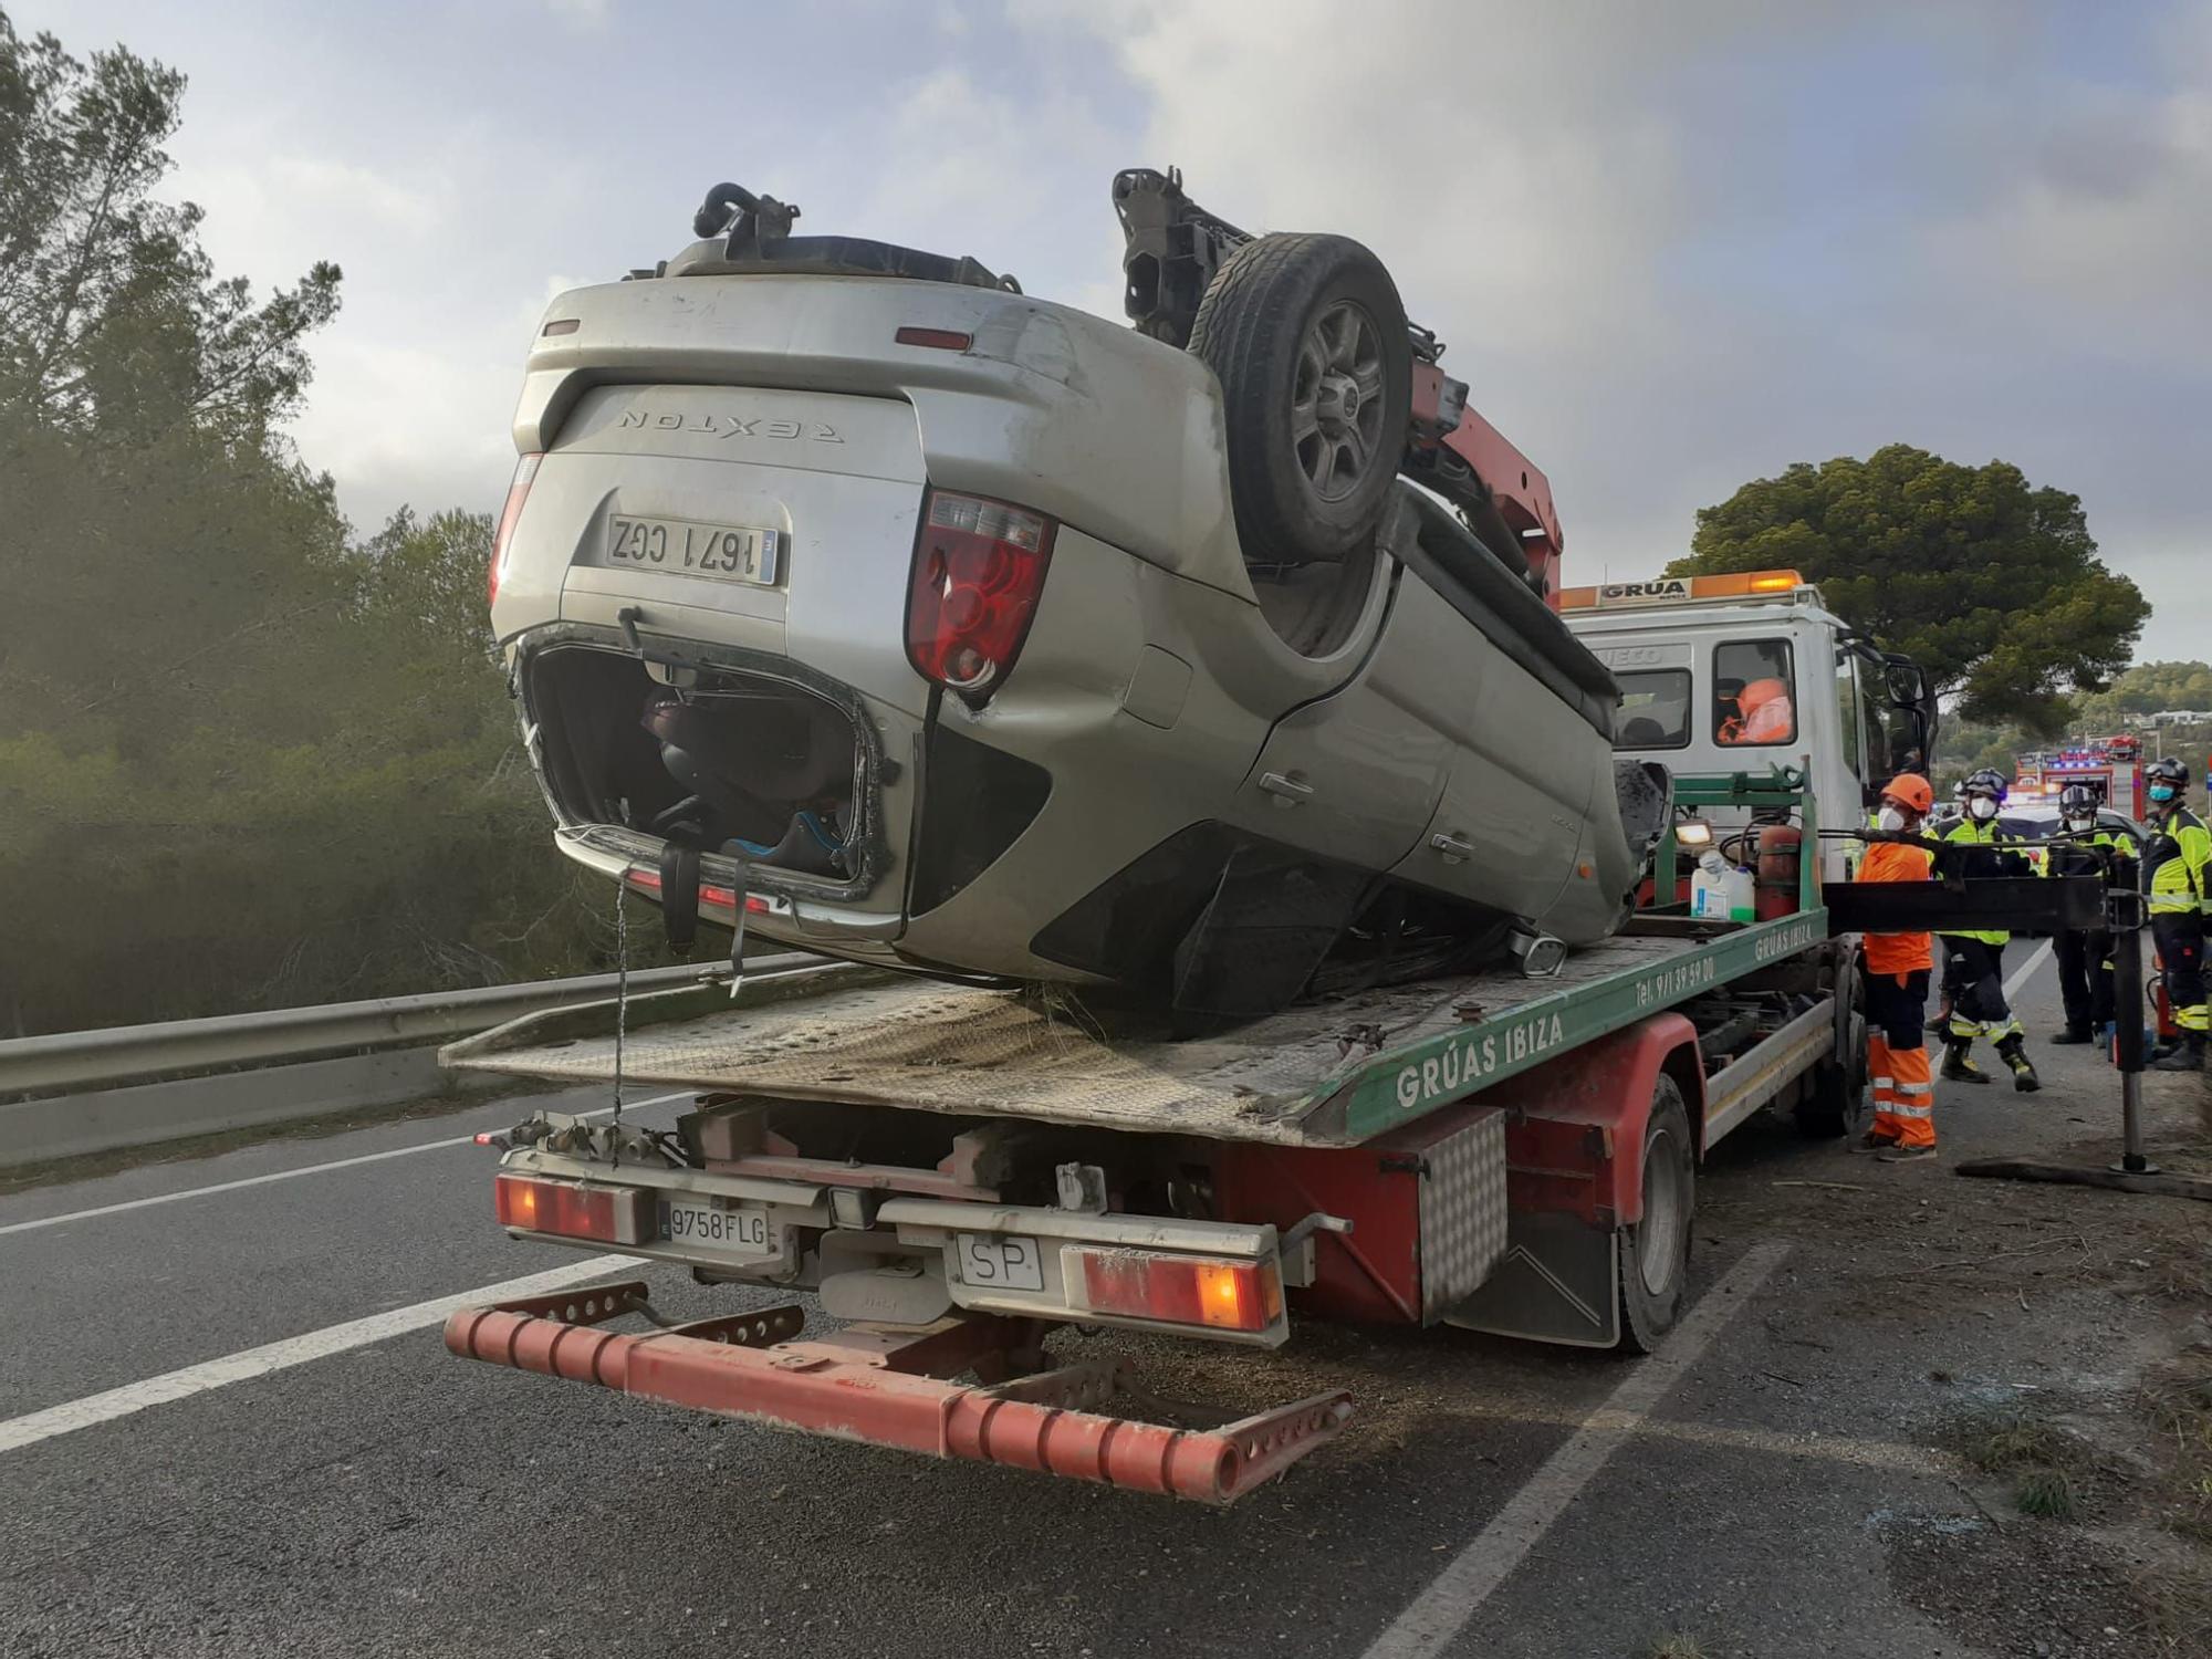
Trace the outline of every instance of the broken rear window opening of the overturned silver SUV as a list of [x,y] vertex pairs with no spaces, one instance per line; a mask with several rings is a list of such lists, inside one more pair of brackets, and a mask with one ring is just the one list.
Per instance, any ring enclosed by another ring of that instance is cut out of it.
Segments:
[[562,814],[706,854],[847,880],[858,741],[843,710],[765,675],[661,670],[568,646],[531,659]]

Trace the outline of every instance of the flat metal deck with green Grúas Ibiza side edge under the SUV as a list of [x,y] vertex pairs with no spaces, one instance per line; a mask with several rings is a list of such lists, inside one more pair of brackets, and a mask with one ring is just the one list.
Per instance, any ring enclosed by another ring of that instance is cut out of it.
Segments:
[[[1575,951],[1553,978],[1475,973],[1356,991],[1183,1042],[1108,1031],[1066,998],[832,967],[772,982],[776,1000],[765,1006],[637,1024],[653,1009],[650,1000],[633,1004],[622,1077],[1148,1135],[1358,1146],[1825,940],[1825,911],[1759,925],[1644,918]],[[442,1060],[611,1084],[615,1035],[606,1026],[606,1006],[562,1009],[458,1042]],[[1741,1121],[1728,1117],[1732,1104],[1708,1084],[1708,1117],[1732,1128]]]

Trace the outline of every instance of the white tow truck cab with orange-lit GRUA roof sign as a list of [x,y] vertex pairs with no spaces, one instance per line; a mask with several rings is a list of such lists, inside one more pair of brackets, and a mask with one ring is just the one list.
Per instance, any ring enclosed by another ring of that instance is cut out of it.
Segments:
[[[1851,827],[1936,741],[1927,675],[1880,650],[1796,571],[1562,588],[1568,628],[1621,684],[1613,748],[1677,774],[1803,765],[1818,823]],[[1717,830],[1750,814],[1714,812]],[[1849,843],[1827,841],[1843,880]]]

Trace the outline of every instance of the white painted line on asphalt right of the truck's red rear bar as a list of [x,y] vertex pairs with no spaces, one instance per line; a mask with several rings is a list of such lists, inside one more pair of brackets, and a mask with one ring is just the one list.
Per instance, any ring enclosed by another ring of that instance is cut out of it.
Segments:
[[1575,1495],[1590,1484],[1606,1460],[1619,1449],[1652,1409],[1672,1391],[1692,1365],[1728,1329],[1752,1294],[1767,1281],[1783,1256],[1785,1243],[1752,1245],[1743,1261],[1728,1270],[1703,1294],[1666,1349],[1637,1360],[1628,1378],[1606,1396],[1606,1402],[1584,1418],[1582,1427],[1559,1447],[1526,1486],[1506,1500],[1475,1540],[1462,1548],[1436,1582],[1400,1613],[1389,1630],[1376,1637],[1365,1659],[1431,1659],[1467,1628],[1491,1593],[1566,1513]]

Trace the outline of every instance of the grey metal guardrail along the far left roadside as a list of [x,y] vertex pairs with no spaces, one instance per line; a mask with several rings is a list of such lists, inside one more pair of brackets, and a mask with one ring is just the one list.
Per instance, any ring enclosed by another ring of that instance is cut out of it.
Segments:
[[[821,956],[759,956],[745,962],[745,978],[823,967],[832,967],[832,962]],[[668,991],[728,978],[728,962],[641,969],[630,973],[630,989]],[[268,1009],[263,1013],[223,1013],[210,1020],[166,1020],[150,1026],[11,1037],[0,1042],[0,1099],[341,1051],[398,1048],[484,1031],[524,1013],[599,1002],[615,995],[615,982],[613,973],[584,973],[571,980],[487,984],[469,991],[325,1002],[312,1009]]]

